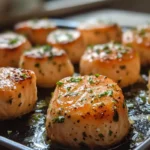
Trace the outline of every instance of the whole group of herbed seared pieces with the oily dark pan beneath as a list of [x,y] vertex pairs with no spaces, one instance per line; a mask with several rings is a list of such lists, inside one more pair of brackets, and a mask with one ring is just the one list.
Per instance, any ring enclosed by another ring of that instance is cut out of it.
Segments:
[[149,28],[34,19],[1,33],[0,127],[30,120],[32,136],[19,142],[34,149],[137,147],[150,136]]

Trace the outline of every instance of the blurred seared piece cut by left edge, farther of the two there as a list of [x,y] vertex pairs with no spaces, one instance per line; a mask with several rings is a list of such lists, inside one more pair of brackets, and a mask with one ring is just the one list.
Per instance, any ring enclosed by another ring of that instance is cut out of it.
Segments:
[[18,67],[21,54],[31,48],[30,42],[13,32],[0,34],[0,67]]

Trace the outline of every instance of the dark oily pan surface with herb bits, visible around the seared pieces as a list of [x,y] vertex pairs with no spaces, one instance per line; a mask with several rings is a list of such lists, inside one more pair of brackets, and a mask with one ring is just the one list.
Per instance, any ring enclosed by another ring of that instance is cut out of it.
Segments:
[[[76,22],[56,20],[60,27],[74,28]],[[126,28],[124,28],[126,29]],[[75,66],[78,73],[78,65]],[[129,135],[117,146],[107,148],[115,150],[128,150],[138,147],[143,141],[150,137],[150,101],[147,94],[148,67],[141,71],[142,80],[128,88],[123,89],[132,128]],[[13,141],[26,145],[34,150],[69,149],[61,145],[54,145],[46,138],[45,115],[51,92],[54,89],[38,88],[38,102],[35,110],[10,121],[0,122],[0,135]],[[0,146],[1,150],[5,150]],[[82,146],[81,149],[86,149]]]

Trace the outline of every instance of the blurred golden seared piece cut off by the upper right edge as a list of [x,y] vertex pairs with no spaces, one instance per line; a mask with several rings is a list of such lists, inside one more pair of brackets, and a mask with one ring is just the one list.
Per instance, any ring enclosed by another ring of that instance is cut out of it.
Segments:
[[139,53],[141,65],[150,64],[150,26],[126,31],[123,43],[132,46]]

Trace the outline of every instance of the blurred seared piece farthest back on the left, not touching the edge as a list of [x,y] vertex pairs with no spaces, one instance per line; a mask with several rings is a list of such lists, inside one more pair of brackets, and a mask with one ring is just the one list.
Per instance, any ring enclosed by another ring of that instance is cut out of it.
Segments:
[[15,25],[15,31],[26,35],[33,44],[46,44],[47,35],[56,29],[50,19],[26,20]]

